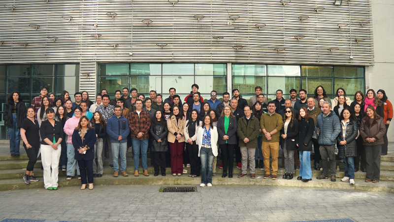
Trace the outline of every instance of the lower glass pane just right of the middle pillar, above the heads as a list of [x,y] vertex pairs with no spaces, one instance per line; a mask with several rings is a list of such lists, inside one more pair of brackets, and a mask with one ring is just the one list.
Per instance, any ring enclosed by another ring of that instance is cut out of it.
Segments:
[[232,76],[232,88],[238,89],[241,95],[255,94],[255,87],[261,86],[265,92],[265,77],[260,76]]

